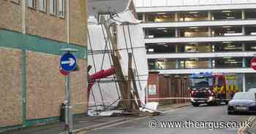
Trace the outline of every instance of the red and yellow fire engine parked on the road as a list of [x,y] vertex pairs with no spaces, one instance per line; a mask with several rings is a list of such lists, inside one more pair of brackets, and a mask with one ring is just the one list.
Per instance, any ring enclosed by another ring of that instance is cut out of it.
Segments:
[[192,106],[227,103],[238,92],[236,74],[208,72],[189,76],[189,92]]

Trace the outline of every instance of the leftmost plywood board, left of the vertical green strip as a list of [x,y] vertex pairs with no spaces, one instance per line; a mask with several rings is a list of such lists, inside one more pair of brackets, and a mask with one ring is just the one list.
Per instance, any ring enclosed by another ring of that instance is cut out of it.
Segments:
[[0,47],[0,127],[22,124],[21,51]]

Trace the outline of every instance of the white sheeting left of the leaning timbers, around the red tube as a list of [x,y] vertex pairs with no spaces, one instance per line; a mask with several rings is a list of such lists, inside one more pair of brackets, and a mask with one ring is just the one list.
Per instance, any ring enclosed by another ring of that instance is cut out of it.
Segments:
[[[111,66],[110,57],[108,57],[108,53],[97,53],[97,50],[105,51],[105,36],[103,31],[106,33],[105,29],[102,29],[102,25],[98,24],[89,24],[89,50],[94,50],[94,55],[89,55],[88,64],[93,66],[89,74],[94,74],[97,71],[102,69],[108,69]],[[108,44],[108,49],[109,49]],[[91,48],[92,47],[92,48]],[[92,53],[94,53],[92,52]],[[104,57],[104,59],[103,59]],[[103,60],[103,62],[102,62]],[[94,64],[95,67],[94,68]],[[102,79],[103,80],[103,79]],[[91,88],[92,92],[89,97],[89,106],[94,105],[107,105],[110,106],[111,103],[118,100],[118,92],[116,90],[115,83],[94,83],[94,86]],[[117,103],[115,103],[116,105]]]

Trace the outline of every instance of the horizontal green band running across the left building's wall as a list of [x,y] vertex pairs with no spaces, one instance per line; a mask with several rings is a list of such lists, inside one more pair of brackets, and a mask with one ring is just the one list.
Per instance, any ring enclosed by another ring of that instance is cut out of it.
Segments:
[[87,59],[87,47],[57,42],[39,36],[25,35],[4,29],[0,29],[0,47],[12,47],[53,55],[62,55],[63,52],[59,50],[63,48],[73,48],[78,50],[78,52],[73,52],[77,58]]

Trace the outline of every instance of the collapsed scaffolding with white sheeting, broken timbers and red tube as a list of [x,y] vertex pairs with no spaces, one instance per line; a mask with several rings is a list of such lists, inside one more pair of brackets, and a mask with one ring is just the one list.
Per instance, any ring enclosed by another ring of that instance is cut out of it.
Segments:
[[141,114],[146,105],[148,63],[140,21],[129,8],[101,15],[99,21],[91,18],[87,31],[92,66],[89,115],[106,115],[105,111]]

